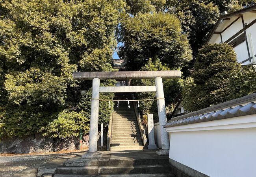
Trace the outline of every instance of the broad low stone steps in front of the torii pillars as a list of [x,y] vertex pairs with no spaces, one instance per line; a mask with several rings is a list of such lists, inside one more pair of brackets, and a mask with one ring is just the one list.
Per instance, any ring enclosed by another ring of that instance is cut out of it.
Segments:
[[[52,177],[175,177],[168,156],[152,150],[102,151],[101,159],[73,157]],[[46,177],[46,176],[45,176]]]

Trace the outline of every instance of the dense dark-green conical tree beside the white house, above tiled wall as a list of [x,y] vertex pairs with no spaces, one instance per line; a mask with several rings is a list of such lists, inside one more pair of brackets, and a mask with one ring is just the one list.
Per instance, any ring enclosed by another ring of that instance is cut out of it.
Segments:
[[238,68],[236,53],[228,44],[203,46],[191,77],[184,82],[184,109],[197,111],[228,100],[229,78]]

